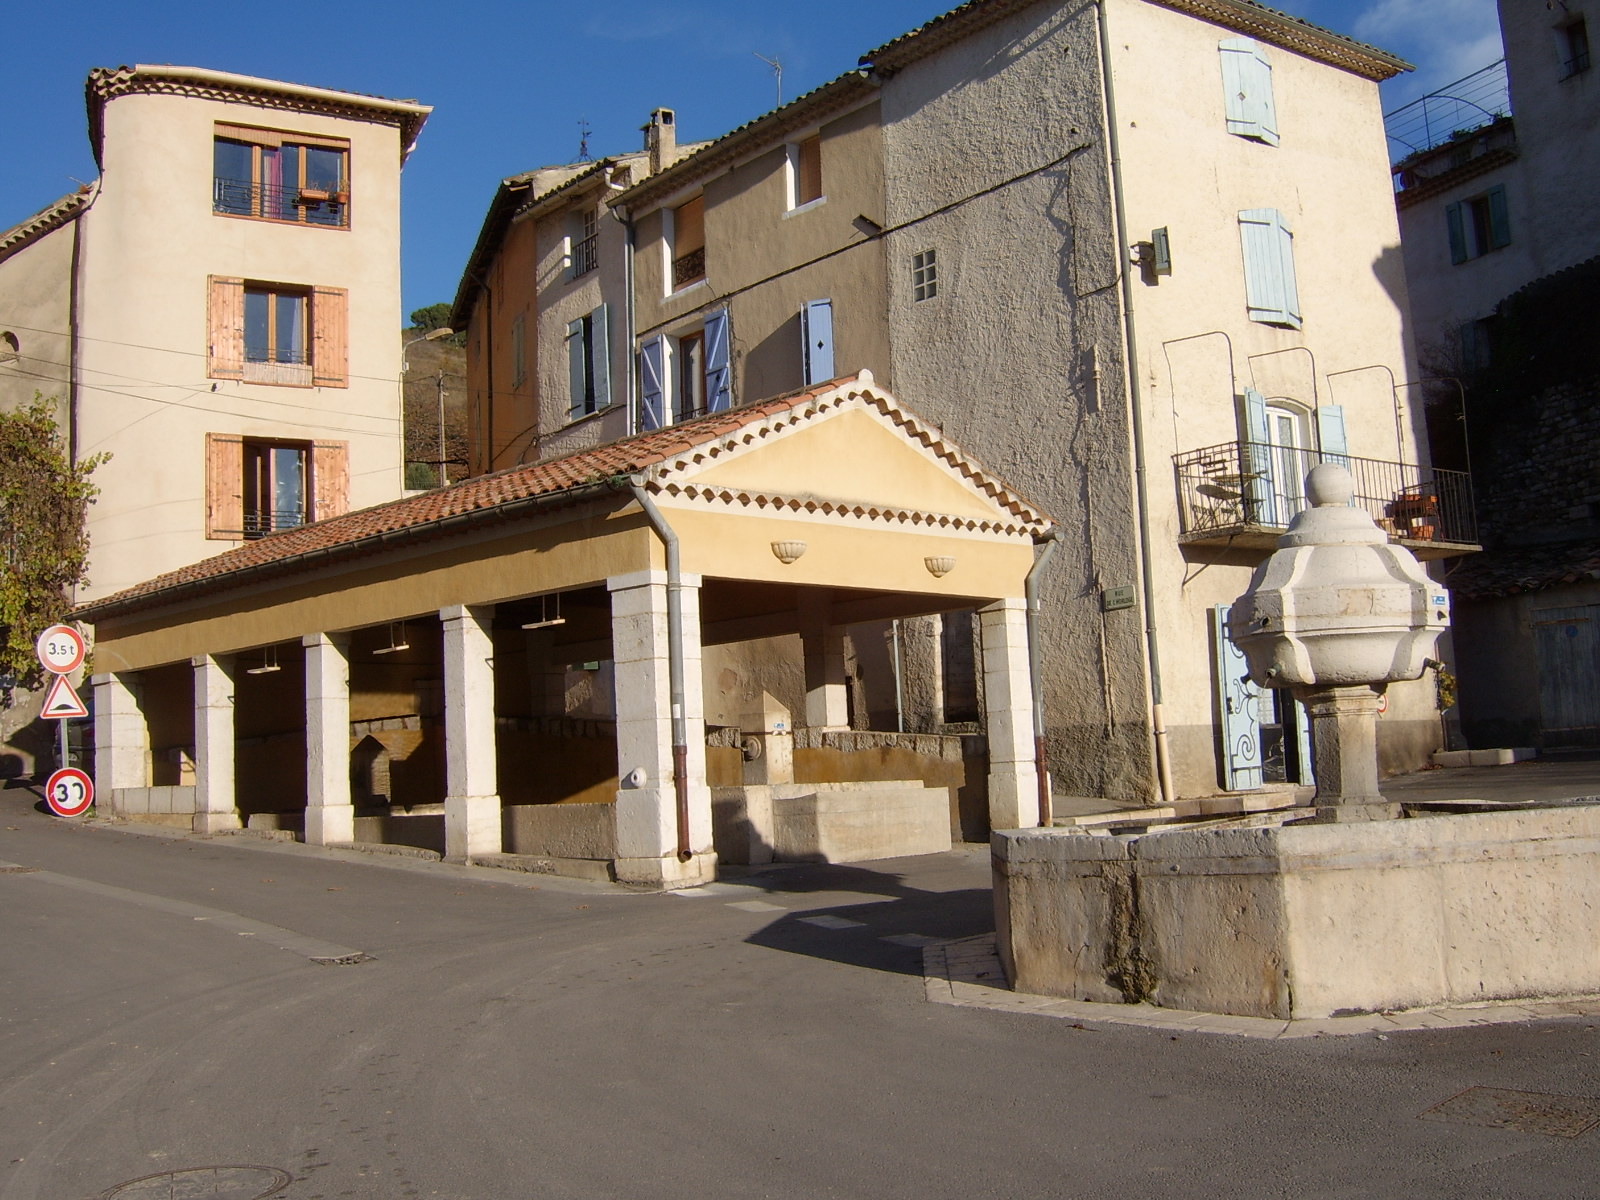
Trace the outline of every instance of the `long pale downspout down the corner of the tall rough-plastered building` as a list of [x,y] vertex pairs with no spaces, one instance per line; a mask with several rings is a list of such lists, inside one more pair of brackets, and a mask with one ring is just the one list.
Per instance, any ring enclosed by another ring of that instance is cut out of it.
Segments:
[[1099,26],[1101,86],[1106,93],[1106,150],[1110,157],[1110,187],[1117,213],[1117,254],[1122,277],[1122,331],[1128,350],[1128,408],[1133,424],[1133,482],[1139,517],[1139,586],[1144,592],[1144,642],[1150,678],[1150,733],[1155,738],[1155,776],[1162,803],[1173,803],[1173,763],[1166,742],[1166,718],[1162,712],[1162,651],[1155,627],[1155,568],[1150,562],[1150,490],[1144,459],[1144,406],[1139,395],[1139,341],[1133,328],[1133,274],[1128,270],[1128,208],[1122,187],[1122,141],[1117,128],[1117,93],[1110,77],[1110,30],[1106,24],[1106,0],[1094,0]]

